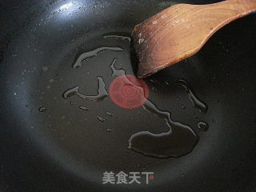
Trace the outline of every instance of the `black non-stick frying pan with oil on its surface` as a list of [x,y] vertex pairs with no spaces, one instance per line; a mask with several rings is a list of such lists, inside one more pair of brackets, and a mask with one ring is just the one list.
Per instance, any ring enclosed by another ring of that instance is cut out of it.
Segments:
[[[97,94],[98,78],[109,92],[114,58],[116,69],[133,75],[129,39],[103,35],[127,37],[177,2],[218,1],[0,2],[0,191],[255,190],[255,14],[225,26],[192,58],[145,79],[150,101],[190,127],[192,140],[178,135],[173,147],[138,138],[132,150],[132,135],[170,130],[165,119],[143,107],[123,109],[110,97],[63,98],[75,86]],[[82,53],[101,46],[123,51],[105,51],[72,68]],[[206,113],[194,107],[181,79]],[[110,171],[139,172],[141,184],[103,184]],[[154,172],[154,179],[146,184],[142,172]]]

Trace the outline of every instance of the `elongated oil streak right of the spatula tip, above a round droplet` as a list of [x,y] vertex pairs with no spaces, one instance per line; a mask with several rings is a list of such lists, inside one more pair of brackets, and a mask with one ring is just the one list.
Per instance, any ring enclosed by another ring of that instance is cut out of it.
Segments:
[[183,79],[178,80],[178,84],[183,86],[186,89],[187,94],[189,95],[190,101],[193,103],[193,106],[197,108],[200,112],[206,113],[207,111],[207,106],[203,102],[199,100],[199,98],[194,94],[192,91],[190,85],[188,82],[186,82]]

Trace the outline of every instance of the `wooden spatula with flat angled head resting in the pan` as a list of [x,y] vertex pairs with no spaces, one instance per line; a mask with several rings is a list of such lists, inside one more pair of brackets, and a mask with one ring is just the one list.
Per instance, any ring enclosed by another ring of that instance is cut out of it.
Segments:
[[138,77],[189,58],[222,26],[255,11],[256,0],[227,0],[209,5],[178,4],[148,18],[135,26],[132,34]]

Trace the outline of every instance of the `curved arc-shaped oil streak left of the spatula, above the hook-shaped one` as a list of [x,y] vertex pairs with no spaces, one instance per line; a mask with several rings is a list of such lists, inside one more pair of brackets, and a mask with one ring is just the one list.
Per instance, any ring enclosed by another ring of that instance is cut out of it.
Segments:
[[76,60],[76,62],[74,62],[73,66],[72,66],[73,69],[78,69],[82,65],[82,62],[84,60],[87,60],[89,58],[94,58],[94,57],[97,56],[97,54],[102,53],[103,51],[106,51],[106,50],[123,51],[123,49],[121,47],[118,47],[118,46],[102,46],[102,47],[99,47],[96,50],[91,50],[89,52],[81,54],[78,57],[78,59]]

